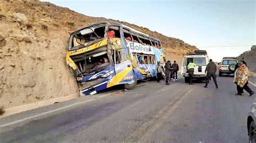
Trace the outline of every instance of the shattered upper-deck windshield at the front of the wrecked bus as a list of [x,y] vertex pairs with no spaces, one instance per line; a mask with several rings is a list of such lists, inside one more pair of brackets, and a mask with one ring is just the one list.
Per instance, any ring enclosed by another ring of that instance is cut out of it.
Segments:
[[87,47],[102,40],[105,37],[105,28],[105,24],[87,27],[71,35],[69,50]]

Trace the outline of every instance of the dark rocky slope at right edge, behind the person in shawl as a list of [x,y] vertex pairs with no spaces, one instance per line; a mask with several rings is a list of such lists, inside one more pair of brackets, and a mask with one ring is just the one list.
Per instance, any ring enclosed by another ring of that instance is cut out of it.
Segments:
[[238,60],[245,58],[248,68],[256,73],[256,45],[253,45],[250,51],[246,51],[238,56]]

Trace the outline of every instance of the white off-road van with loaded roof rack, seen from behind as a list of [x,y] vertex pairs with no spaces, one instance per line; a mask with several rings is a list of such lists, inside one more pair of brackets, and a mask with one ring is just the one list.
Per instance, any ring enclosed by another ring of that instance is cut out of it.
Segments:
[[187,65],[190,61],[196,63],[196,67],[194,67],[194,79],[199,79],[203,82],[206,81],[206,65],[209,63],[209,58],[207,56],[207,52],[204,50],[196,50],[194,53],[187,53],[186,56],[183,57],[182,61],[182,69],[181,74],[185,78],[185,82],[188,83],[189,77],[187,73]]

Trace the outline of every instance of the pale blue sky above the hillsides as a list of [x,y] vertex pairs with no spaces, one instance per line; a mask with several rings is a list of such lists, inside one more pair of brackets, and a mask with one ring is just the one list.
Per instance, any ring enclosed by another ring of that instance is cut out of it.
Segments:
[[48,2],[86,16],[117,19],[179,38],[199,49],[206,49],[214,61],[220,61],[223,56],[238,56],[256,45],[254,0]]

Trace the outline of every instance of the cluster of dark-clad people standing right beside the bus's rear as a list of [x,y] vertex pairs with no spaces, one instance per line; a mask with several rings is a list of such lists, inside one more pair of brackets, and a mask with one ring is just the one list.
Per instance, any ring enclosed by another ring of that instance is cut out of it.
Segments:
[[156,66],[157,71],[157,82],[160,82],[162,73],[165,73],[165,84],[170,85],[169,81],[171,81],[171,78],[173,77],[173,81],[178,81],[178,71],[179,71],[179,65],[176,63],[176,61],[173,61],[173,64],[171,61],[167,61],[165,63],[165,71],[161,67],[160,62],[158,62]]

